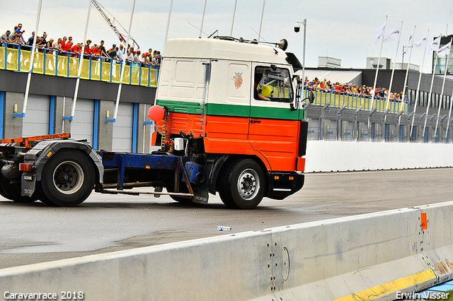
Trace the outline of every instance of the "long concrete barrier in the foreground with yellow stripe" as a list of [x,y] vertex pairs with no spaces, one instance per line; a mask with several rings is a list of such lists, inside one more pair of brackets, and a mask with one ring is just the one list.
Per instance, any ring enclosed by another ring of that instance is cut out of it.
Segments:
[[[426,217],[426,218],[425,218]],[[453,278],[453,202],[0,270],[84,300],[394,300]],[[0,298],[0,300],[2,300]]]

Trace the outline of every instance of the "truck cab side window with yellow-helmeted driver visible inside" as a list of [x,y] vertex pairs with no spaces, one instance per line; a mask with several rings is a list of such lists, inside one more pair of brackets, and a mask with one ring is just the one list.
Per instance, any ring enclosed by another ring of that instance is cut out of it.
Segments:
[[291,102],[289,70],[275,66],[256,66],[253,97],[256,100]]

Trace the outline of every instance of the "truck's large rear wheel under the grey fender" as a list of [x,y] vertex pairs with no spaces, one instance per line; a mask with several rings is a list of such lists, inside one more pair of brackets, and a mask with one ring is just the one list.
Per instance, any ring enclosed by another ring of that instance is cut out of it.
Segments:
[[93,191],[95,175],[85,153],[75,149],[58,151],[42,168],[37,183],[41,201],[62,207],[77,206]]

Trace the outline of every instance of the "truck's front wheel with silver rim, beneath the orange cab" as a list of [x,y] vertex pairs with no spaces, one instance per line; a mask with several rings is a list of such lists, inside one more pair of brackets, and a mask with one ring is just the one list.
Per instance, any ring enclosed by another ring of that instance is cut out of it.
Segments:
[[231,163],[221,180],[220,199],[229,208],[252,209],[263,200],[265,173],[255,160]]

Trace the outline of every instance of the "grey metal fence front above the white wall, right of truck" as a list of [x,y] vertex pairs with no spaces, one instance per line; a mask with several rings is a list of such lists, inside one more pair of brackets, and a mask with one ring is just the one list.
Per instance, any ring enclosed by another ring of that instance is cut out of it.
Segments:
[[451,143],[452,122],[446,114],[440,118],[437,114],[427,117],[426,114],[365,111],[327,104],[306,107],[306,119],[311,140]]

